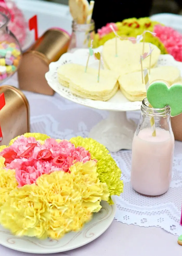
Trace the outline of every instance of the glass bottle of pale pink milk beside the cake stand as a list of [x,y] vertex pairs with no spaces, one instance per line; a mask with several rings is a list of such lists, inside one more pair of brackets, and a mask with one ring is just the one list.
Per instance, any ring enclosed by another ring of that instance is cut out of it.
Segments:
[[[156,136],[152,136],[152,120]],[[150,196],[164,194],[171,182],[173,154],[170,107],[150,108],[145,98],[132,143],[131,184],[134,190]]]

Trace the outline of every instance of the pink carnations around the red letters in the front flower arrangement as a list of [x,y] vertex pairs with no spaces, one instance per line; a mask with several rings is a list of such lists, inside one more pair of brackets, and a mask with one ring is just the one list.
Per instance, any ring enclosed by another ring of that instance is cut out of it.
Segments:
[[[21,156],[30,146],[29,143],[36,143],[35,147],[31,151],[29,157]],[[48,159],[41,159],[38,153],[41,150],[50,150],[52,155]],[[46,139],[45,144],[42,146],[36,142],[35,138],[25,138],[23,135],[18,137],[17,140],[9,147],[2,150],[0,155],[9,153],[11,156],[6,162],[6,168],[15,169],[16,180],[18,187],[22,187],[26,184],[36,183],[36,179],[42,174],[48,174],[53,171],[64,171],[69,172],[69,167],[76,162],[86,162],[91,160],[90,153],[83,147],[77,147],[66,140],[60,143],[56,142],[55,139]],[[16,155],[17,154],[17,155]],[[62,162],[55,161],[56,158],[60,157]]]

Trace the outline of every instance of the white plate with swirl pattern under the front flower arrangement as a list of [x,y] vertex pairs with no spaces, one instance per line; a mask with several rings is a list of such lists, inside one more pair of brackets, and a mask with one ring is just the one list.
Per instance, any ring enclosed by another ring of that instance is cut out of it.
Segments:
[[95,240],[103,234],[112,223],[116,212],[114,205],[102,201],[102,209],[94,213],[93,219],[79,232],[69,232],[62,239],[39,240],[33,237],[18,237],[0,226],[0,244],[20,252],[27,253],[58,253],[69,251]]

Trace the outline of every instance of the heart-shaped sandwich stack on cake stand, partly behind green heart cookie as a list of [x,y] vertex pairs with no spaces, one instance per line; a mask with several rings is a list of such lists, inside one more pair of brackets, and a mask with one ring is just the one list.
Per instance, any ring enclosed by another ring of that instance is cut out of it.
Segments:
[[[181,81],[180,70],[173,66],[152,68],[149,81],[166,80],[169,85]],[[119,85],[122,94],[130,101],[142,101],[146,97],[145,83],[142,83],[141,71],[120,76]]]

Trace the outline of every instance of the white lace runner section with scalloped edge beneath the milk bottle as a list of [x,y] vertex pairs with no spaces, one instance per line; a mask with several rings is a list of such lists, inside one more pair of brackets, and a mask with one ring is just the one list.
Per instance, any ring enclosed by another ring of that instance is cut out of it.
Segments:
[[141,227],[161,227],[173,235],[181,235],[182,143],[175,142],[170,189],[166,194],[156,197],[144,196],[133,190],[130,183],[131,151],[120,151],[112,156],[119,163],[124,175],[124,192],[116,199],[115,219]]

